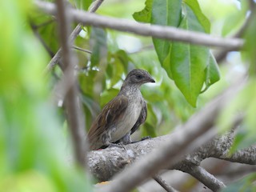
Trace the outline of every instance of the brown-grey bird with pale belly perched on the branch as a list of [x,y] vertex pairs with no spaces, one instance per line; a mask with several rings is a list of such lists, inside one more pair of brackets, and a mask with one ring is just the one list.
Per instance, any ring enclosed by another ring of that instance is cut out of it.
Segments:
[[134,69],[127,74],[118,95],[103,107],[90,126],[90,150],[132,142],[130,135],[146,121],[147,106],[140,86],[147,82],[155,81],[146,70]]

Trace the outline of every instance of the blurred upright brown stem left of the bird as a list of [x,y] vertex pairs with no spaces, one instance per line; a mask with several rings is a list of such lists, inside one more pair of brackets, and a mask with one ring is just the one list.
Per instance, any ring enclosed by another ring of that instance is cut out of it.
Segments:
[[65,98],[67,121],[73,139],[75,159],[80,166],[86,167],[86,134],[84,130],[85,122],[84,115],[82,114],[81,110],[81,103],[78,98],[78,87],[75,86],[76,77],[74,75],[74,62],[76,62],[76,59],[70,50],[71,43],[68,38],[70,22],[66,14],[66,6],[63,0],[57,0],[56,5],[58,7],[57,16],[59,36],[63,51],[63,78],[68,78],[73,85],[67,88],[68,91]]

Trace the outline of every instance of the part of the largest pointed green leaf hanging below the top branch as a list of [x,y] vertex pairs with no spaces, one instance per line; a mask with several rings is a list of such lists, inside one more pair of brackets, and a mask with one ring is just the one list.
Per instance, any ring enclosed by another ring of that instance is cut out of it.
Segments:
[[[201,54],[201,57],[198,57],[198,54]],[[196,106],[198,95],[206,77],[204,70],[207,54],[207,50],[203,47],[185,46],[176,42],[173,44],[170,54],[172,78],[192,106]]]

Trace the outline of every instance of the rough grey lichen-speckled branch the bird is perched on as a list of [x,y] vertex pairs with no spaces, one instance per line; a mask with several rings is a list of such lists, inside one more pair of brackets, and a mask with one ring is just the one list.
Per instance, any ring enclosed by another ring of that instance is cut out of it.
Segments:
[[[230,149],[229,135],[230,134],[226,134],[224,136],[214,138],[214,140],[210,141],[206,145],[199,147],[194,151],[194,153],[186,155],[186,158],[183,158],[182,161],[178,162],[170,169],[182,170],[183,172],[191,174],[194,178],[197,178],[198,181],[202,182],[205,186],[210,188],[210,190],[219,190],[225,185],[199,166],[202,160],[214,157],[225,159],[230,162],[241,162],[255,165],[256,149],[254,146],[251,146],[246,150],[239,150],[229,158],[225,157],[225,154],[228,154],[228,149]],[[123,170],[124,167],[129,165],[131,162],[134,162],[145,154],[149,154],[154,149],[157,149],[158,146],[171,141],[175,137],[176,135],[174,133],[137,142],[127,145],[126,151],[115,147],[106,150],[91,151],[88,156],[90,170],[100,181],[109,180],[114,176],[114,174]],[[205,138],[206,141],[209,140],[205,134],[202,135],[201,138]]]

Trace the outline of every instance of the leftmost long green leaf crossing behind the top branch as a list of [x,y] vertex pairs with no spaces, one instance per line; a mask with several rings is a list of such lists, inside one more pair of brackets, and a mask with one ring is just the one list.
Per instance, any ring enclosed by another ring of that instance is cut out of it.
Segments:
[[[182,18],[181,0],[154,0],[152,5],[151,23],[161,26],[179,26]],[[170,52],[171,43],[166,40],[153,38],[154,48],[159,61],[164,62]]]

